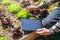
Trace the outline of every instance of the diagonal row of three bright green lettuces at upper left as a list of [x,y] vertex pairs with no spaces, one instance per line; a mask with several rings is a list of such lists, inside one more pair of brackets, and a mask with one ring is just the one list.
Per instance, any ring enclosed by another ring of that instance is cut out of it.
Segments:
[[[7,5],[7,10],[8,12],[12,13],[12,14],[16,14],[18,19],[26,19],[30,17],[30,12],[28,12],[26,9],[21,9],[20,4],[16,3],[16,4],[12,4],[10,0],[3,0],[2,1],[3,5]],[[34,19],[33,17],[30,17],[30,19]]]

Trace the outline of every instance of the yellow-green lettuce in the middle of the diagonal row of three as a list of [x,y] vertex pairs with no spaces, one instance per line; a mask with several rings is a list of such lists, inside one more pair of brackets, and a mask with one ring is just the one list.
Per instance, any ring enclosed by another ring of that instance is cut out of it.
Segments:
[[18,13],[21,10],[19,4],[11,4],[8,6],[7,10],[11,13]]

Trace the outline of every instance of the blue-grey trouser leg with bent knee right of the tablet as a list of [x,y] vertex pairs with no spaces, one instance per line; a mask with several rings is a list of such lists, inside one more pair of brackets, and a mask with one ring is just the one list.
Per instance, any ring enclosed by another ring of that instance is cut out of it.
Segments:
[[60,20],[60,9],[55,9],[43,20],[43,26],[46,28],[50,28],[59,20]]

